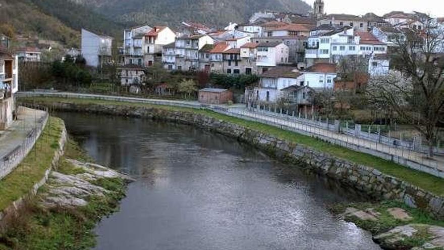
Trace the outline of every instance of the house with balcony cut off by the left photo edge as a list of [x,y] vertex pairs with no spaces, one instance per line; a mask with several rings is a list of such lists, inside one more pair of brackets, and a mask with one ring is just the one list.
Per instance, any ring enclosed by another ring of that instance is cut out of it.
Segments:
[[18,58],[0,47],[0,130],[7,129],[13,122],[14,94],[18,86]]

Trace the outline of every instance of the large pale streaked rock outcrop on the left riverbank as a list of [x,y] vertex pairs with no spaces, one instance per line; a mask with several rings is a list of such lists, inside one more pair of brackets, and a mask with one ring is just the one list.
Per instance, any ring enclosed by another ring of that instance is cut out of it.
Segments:
[[91,182],[102,178],[122,178],[127,181],[132,179],[112,169],[91,163],[82,163],[76,160],[71,162],[83,173],[66,175],[52,171],[45,192],[41,194],[41,204],[46,208],[63,207],[75,208],[86,206],[87,199],[91,196],[104,196],[109,190],[92,184]]

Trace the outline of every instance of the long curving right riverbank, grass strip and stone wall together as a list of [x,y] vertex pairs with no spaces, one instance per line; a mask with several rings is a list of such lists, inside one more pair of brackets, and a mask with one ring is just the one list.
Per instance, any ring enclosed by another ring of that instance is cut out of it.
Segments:
[[304,163],[307,169],[371,197],[397,199],[444,218],[442,179],[317,138],[191,108],[51,97],[21,98],[19,102],[45,105],[52,110],[144,117],[198,126],[263,148],[280,160]]

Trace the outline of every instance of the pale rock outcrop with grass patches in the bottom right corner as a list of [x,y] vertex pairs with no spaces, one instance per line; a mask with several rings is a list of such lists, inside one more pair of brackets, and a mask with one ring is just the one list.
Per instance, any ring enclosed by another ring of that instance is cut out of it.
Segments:
[[[411,248],[409,242],[414,239],[425,239],[425,243]],[[381,233],[373,237],[373,240],[384,249],[443,249],[444,248],[444,227],[430,226],[424,224],[409,224],[395,227],[394,229]]]

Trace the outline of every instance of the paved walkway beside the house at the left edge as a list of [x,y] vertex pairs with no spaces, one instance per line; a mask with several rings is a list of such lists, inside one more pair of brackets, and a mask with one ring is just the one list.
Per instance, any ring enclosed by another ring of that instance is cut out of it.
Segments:
[[22,145],[28,134],[39,126],[38,121],[45,114],[41,110],[19,107],[17,120],[7,130],[0,131],[0,161],[15,148]]

